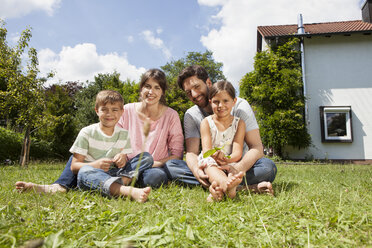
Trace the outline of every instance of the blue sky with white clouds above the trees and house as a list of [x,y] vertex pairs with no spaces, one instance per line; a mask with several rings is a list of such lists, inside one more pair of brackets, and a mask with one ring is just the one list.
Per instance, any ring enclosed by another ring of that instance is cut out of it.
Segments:
[[253,69],[259,25],[360,20],[364,0],[0,0],[8,42],[32,28],[50,83],[118,71],[138,80],[188,52],[209,49],[235,85]]

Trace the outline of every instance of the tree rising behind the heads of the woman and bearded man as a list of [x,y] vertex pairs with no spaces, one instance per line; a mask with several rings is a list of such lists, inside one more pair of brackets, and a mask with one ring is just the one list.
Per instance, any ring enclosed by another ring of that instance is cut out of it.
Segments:
[[201,65],[207,70],[209,78],[212,80],[212,82],[226,79],[222,73],[223,64],[214,61],[212,55],[212,52],[208,50],[204,53],[189,52],[185,58],[174,60],[165,64],[164,66],[161,66],[161,69],[167,76],[167,81],[169,84],[169,89],[166,94],[167,103],[169,107],[178,112],[181,121],[183,121],[183,116],[186,110],[193,105],[193,103],[188,100],[186,94],[178,87],[177,84],[177,77],[182,69],[190,65]]

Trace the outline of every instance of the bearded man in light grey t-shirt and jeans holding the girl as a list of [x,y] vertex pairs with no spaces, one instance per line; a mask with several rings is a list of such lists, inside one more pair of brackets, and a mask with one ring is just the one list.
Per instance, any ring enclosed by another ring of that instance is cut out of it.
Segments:
[[[186,163],[171,160],[167,162],[166,167],[172,181],[209,187],[208,176],[203,168],[198,166],[198,155],[200,153],[200,123],[213,113],[208,100],[209,87],[212,82],[203,67],[193,65],[181,71],[178,76],[178,85],[195,105],[188,109],[184,116]],[[250,190],[274,194],[271,183],[275,179],[277,168],[273,161],[263,157],[260,132],[251,106],[246,100],[238,98],[232,115],[240,117],[246,124],[244,155],[234,166],[222,166],[222,168],[231,173],[239,171],[245,173],[242,184],[243,186],[249,185]],[[218,152],[214,158],[217,162],[222,162],[219,160]],[[209,189],[214,196],[216,196],[216,191],[220,190],[218,185],[212,185]]]

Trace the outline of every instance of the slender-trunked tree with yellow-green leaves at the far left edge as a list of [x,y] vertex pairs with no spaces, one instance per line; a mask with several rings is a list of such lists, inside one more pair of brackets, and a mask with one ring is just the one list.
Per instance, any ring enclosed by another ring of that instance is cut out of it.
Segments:
[[27,68],[22,67],[22,56],[26,52],[31,39],[31,30],[25,29],[15,47],[6,42],[7,30],[3,22],[0,27],[0,109],[9,116],[16,112],[16,123],[24,130],[24,140],[20,164],[25,166],[29,161],[30,134],[39,124],[44,108],[42,85],[45,80],[37,77],[39,73],[37,52],[28,49]]

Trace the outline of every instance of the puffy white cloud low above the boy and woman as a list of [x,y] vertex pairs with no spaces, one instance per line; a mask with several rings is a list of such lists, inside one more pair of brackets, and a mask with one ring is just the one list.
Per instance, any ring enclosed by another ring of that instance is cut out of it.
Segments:
[[122,80],[136,80],[145,72],[145,68],[131,65],[126,55],[108,53],[100,55],[96,46],[91,43],[78,44],[75,47],[63,47],[56,54],[50,49],[38,52],[39,69],[42,76],[50,71],[55,72],[55,78],[48,83],[66,81],[93,81],[98,73],[111,73],[114,70],[120,73]]

